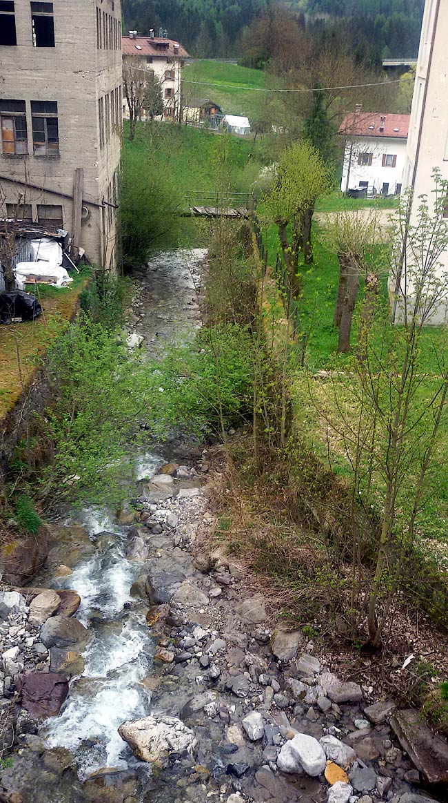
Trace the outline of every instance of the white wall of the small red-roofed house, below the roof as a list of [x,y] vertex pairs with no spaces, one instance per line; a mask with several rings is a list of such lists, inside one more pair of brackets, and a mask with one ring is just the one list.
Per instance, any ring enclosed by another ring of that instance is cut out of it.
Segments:
[[[351,149],[351,156],[350,156]],[[371,165],[358,165],[360,153],[371,153]],[[382,167],[383,154],[397,157],[395,167]],[[342,169],[341,190],[353,190],[360,181],[368,181],[369,187],[382,192],[384,183],[389,184],[389,194],[395,194],[397,185],[402,184],[406,162],[406,140],[398,137],[348,137],[345,144],[344,165]],[[347,176],[349,182],[347,186]],[[398,188],[399,189],[399,188]]]

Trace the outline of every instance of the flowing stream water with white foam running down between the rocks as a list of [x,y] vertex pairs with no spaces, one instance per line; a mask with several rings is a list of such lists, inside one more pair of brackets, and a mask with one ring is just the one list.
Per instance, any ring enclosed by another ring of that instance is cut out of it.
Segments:
[[[165,251],[135,274],[138,290],[129,329],[143,336],[142,347],[151,356],[163,353],[165,344],[188,336],[199,325],[200,263],[206,253],[204,249]],[[136,481],[150,479],[170,457],[160,447],[135,459],[130,446]],[[117,728],[128,719],[151,713],[151,691],[144,681],[151,673],[155,644],[145,619],[147,603],[131,596],[131,585],[144,566],[127,559],[130,526],[119,524],[115,511],[107,507],[85,507],[75,518],[83,524],[93,548],[71,574],[50,581],[52,587],[75,589],[81,597],[76,617],[89,630],[85,669],[71,681],[62,713],[46,720],[40,733],[51,747],[73,752],[79,777],[86,778],[103,767],[127,768],[137,763],[141,767]],[[72,524],[69,516],[64,527],[70,531]]]

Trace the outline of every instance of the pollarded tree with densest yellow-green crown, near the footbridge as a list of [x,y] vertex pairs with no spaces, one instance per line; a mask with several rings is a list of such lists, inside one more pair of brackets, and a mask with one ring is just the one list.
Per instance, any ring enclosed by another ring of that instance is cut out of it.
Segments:
[[294,142],[281,153],[276,180],[264,199],[268,218],[278,226],[290,289],[300,290],[299,254],[313,262],[311,222],[318,198],[331,189],[331,176],[317,150],[308,141]]

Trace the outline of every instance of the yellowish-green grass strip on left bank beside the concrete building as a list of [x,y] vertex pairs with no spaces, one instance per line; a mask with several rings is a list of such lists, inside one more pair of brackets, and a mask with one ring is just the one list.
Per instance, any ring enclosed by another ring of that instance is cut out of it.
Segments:
[[[0,418],[12,409],[55,336],[67,326],[79,303],[88,275],[76,274],[70,287],[38,285],[43,313],[22,324],[0,326]],[[34,292],[34,287],[26,287]]]

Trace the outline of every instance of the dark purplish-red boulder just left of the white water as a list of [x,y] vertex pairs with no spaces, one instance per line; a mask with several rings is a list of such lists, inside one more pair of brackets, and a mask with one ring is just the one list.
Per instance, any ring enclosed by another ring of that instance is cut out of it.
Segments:
[[27,672],[16,683],[22,707],[40,719],[59,714],[68,695],[68,681],[59,672]]

